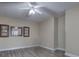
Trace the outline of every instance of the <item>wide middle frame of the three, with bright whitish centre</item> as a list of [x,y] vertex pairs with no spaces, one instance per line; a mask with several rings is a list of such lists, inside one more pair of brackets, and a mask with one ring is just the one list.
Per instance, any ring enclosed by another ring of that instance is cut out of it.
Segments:
[[11,36],[22,36],[22,27],[10,27],[10,34]]

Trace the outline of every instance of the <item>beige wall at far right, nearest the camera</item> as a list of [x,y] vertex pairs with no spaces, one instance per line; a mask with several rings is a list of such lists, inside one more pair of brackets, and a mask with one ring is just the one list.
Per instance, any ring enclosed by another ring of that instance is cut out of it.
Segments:
[[66,11],[66,52],[79,56],[79,7]]

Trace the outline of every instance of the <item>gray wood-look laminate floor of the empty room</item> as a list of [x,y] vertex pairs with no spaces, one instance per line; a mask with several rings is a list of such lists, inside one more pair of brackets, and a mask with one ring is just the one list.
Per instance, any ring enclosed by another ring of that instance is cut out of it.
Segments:
[[32,47],[0,52],[0,57],[64,57],[64,52]]

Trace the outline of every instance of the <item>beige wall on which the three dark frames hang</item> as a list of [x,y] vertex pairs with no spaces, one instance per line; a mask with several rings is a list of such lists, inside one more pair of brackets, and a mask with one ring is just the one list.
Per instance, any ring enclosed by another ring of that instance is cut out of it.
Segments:
[[0,24],[30,27],[30,37],[0,37],[0,50],[38,45],[39,25],[37,23],[20,19],[17,20],[7,17],[0,17]]

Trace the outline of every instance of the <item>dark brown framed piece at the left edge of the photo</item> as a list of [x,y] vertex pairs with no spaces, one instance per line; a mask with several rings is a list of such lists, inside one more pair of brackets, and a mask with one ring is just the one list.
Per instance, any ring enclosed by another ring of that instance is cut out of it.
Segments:
[[0,37],[8,37],[9,36],[9,25],[0,24]]

